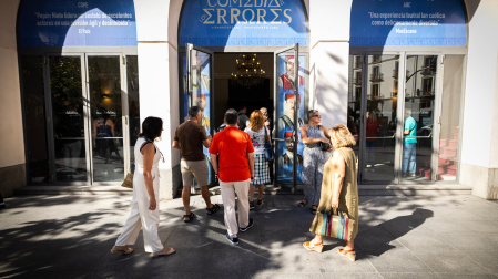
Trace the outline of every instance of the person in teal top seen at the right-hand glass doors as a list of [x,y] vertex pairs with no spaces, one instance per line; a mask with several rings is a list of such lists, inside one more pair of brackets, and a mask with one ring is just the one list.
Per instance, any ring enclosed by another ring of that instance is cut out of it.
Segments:
[[405,127],[403,131],[403,176],[415,177],[417,168],[417,122],[411,117],[411,110],[405,110]]

